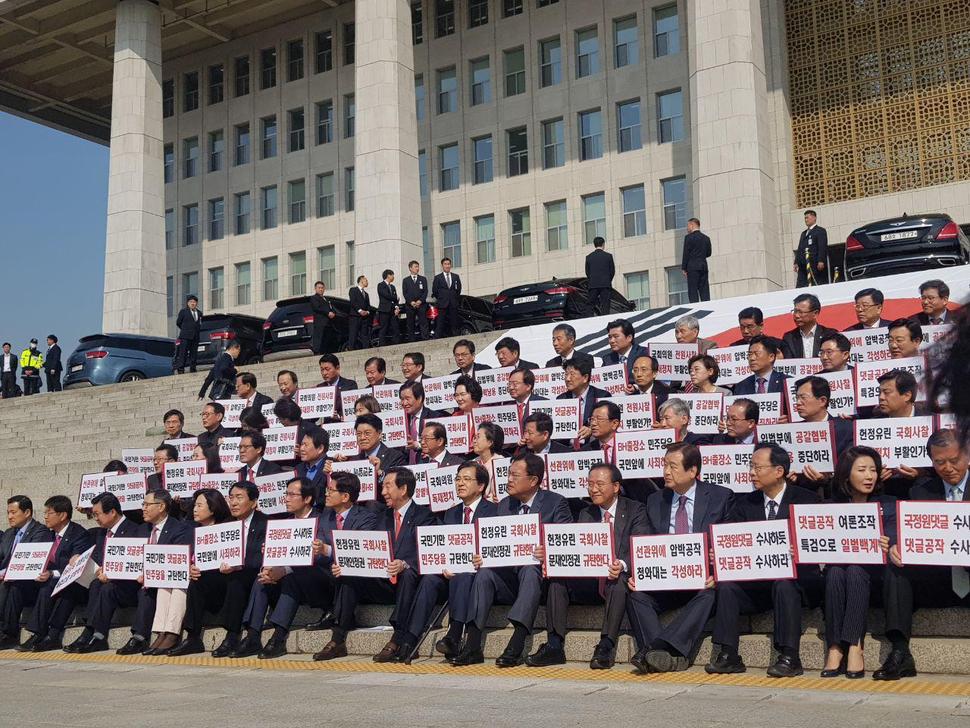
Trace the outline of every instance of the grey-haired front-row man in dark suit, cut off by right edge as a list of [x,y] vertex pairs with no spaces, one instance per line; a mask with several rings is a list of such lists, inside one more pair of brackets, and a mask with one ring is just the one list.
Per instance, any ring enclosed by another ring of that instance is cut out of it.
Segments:
[[[953,430],[937,430],[927,441],[933,475],[913,486],[913,500],[970,501],[970,452],[960,445]],[[959,566],[903,566],[899,546],[889,549],[889,565],[883,574],[886,639],[891,650],[876,670],[875,680],[899,680],[916,675],[916,661],[909,649],[913,633],[913,610],[970,607],[970,572]]]

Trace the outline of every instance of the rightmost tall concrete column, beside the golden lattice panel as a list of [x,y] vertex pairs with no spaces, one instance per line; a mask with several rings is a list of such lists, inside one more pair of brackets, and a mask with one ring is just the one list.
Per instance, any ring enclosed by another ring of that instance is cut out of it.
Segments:
[[712,239],[712,295],[784,283],[761,0],[688,0],[694,214]]

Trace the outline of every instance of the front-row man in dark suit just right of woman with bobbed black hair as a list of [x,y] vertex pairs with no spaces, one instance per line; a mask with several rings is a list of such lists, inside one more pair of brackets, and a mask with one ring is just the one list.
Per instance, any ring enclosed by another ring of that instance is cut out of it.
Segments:
[[185,640],[169,651],[173,657],[197,655],[205,652],[202,631],[205,627],[205,612],[221,612],[220,625],[226,630],[226,637],[212,652],[213,657],[249,657],[255,652],[246,652],[240,643],[243,615],[253,582],[263,565],[263,544],[266,541],[266,522],[264,513],[256,510],[259,506],[259,488],[250,482],[234,483],[229,489],[229,513],[237,521],[243,522],[243,535],[246,555],[242,568],[220,567],[218,572],[205,572],[205,577],[193,565],[190,576],[188,599],[185,607]]

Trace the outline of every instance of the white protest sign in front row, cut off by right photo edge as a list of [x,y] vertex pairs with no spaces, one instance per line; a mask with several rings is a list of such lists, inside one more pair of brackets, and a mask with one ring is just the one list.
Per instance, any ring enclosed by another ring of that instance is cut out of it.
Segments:
[[970,501],[899,501],[899,558],[906,566],[970,566]]

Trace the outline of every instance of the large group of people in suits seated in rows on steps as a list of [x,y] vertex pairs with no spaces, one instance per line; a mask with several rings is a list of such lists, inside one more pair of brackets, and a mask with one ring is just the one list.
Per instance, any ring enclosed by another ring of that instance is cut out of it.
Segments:
[[[929,283],[935,285],[934,292],[948,294],[942,282]],[[877,328],[872,324],[887,323],[879,318],[882,295],[878,291],[867,289],[856,300],[860,326]],[[923,300],[926,308],[925,295]],[[943,312],[925,311],[928,323],[947,322],[952,314],[946,310],[946,301],[943,306]],[[792,336],[786,334],[781,342],[760,331],[760,311],[742,311],[740,330],[742,341],[749,347],[751,376],[736,385],[734,393],[784,391],[784,375],[773,372],[779,356],[819,357],[826,371],[847,366],[848,342],[837,332],[819,330],[822,327],[815,316],[820,308],[814,296],[796,298],[796,332]],[[806,329],[800,322],[808,319],[811,326]],[[907,344],[913,341],[918,351],[921,334],[915,318],[888,323],[892,356],[912,356],[907,353]],[[913,610],[923,606],[970,606],[970,578],[967,570],[960,567],[902,565],[895,543],[896,500],[970,500],[970,450],[960,434],[948,428],[933,432],[927,442],[932,468],[885,468],[879,452],[865,443],[853,442],[851,419],[832,418],[828,413],[828,381],[809,376],[796,383],[798,414],[807,421],[832,421],[837,462],[833,473],[808,467],[796,475],[791,472],[791,457],[783,447],[758,441],[759,406],[752,399],[738,399],[727,409],[720,434],[698,435],[689,431],[690,411],[684,400],[677,397],[678,389],[712,391],[717,364],[709,356],[701,354],[692,362],[690,385],[664,383],[656,379],[656,360],[633,341],[629,322],[611,322],[607,335],[611,353],[603,363],[626,364],[626,392],[654,395],[659,406],[655,425],[675,432],[675,442],[667,447],[664,456],[662,479],[625,478],[618,469],[612,444],[620,430],[620,409],[610,400],[609,393],[590,386],[593,357],[575,350],[575,331],[568,324],[556,327],[552,343],[557,356],[547,366],[564,369],[566,392],[560,398],[580,400],[582,427],[578,436],[569,440],[552,438],[553,423],[548,414],[529,412],[529,403],[540,399],[533,393],[533,370],[538,366],[519,358],[518,344],[511,338],[499,341],[496,354],[500,364],[513,367],[508,375],[508,396],[518,405],[521,438],[506,442],[501,427],[484,422],[477,427],[470,450],[454,445],[449,448],[447,431],[438,421],[449,413],[431,411],[425,406],[422,380],[426,377],[420,353],[404,357],[403,383],[386,378],[386,363],[380,358],[373,357],[365,365],[368,386],[400,384],[400,407],[407,423],[407,445],[402,448],[383,443],[383,421],[377,416],[381,405],[373,396],[358,398],[352,414],[338,407],[334,416],[327,418],[329,422],[318,423],[304,419],[296,404],[299,383],[293,372],[280,372],[277,384],[281,397],[275,403],[257,392],[252,374],[242,373],[236,380],[236,393],[247,400],[247,407],[241,415],[240,428],[235,431],[224,427],[224,406],[219,402],[206,403],[202,409],[203,432],[192,455],[193,459],[206,460],[209,472],[221,472],[220,440],[241,438],[239,480],[227,494],[202,489],[191,499],[173,498],[164,488],[161,473],[166,462],[178,459],[178,452],[163,442],[156,449],[158,472],[148,478],[141,510],[122,511],[114,495],[103,493],[92,500],[86,511],[97,523],[96,528],[89,530],[73,522],[75,509],[67,496],[53,496],[45,502],[43,524],[34,519],[29,498],[14,496],[8,500],[10,528],[0,542],[0,568],[5,568],[18,543],[53,542],[53,547],[44,572],[36,581],[4,584],[0,594],[0,648],[35,652],[63,648],[71,653],[105,650],[116,611],[132,607],[135,616],[131,638],[118,650],[119,654],[181,656],[204,652],[202,638],[208,612],[217,615],[217,624],[226,632],[213,656],[272,659],[286,653],[287,637],[298,608],[308,605],[322,610],[322,616],[306,625],[306,629],[332,630],[330,641],[314,659],[330,660],[347,655],[347,635],[355,627],[356,607],[363,602],[394,605],[391,638],[374,660],[409,663],[434,626],[436,605],[444,602],[447,632],[434,647],[450,664],[460,667],[483,662],[489,610],[494,604],[505,604],[510,605],[508,621],[512,634],[496,664],[541,667],[565,662],[567,610],[571,604],[583,604],[603,608],[600,641],[590,659],[593,669],[613,666],[624,620],[636,641],[632,662],[639,671],[687,669],[713,619],[714,650],[705,669],[709,673],[737,673],[746,669],[739,653],[740,616],[771,609],[772,643],[777,656],[768,674],[791,677],[803,672],[799,656],[803,607],[821,605],[827,647],[822,676],[858,678],[865,673],[863,647],[868,610],[873,603],[885,610],[885,635],[892,647],[873,677],[895,680],[915,675],[916,665],[909,649]],[[696,319],[678,322],[676,335],[679,341],[699,341],[700,348],[705,347],[704,340],[699,339]],[[458,375],[454,414],[464,414],[482,400],[476,374],[487,367],[475,362],[474,344],[468,340],[455,344],[454,355],[458,367],[454,372]],[[342,377],[334,355],[323,355],[319,363],[322,385],[338,390],[358,389],[356,382]],[[916,403],[918,386],[910,372],[890,370],[880,378],[879,405],[871,412],[860,413],[860,417],[915,416],[922,411]],[[264,458],[266,438],[262,433],[268,423],[263,406],[267,404],[272,404],[272,413],[280,425],[298,428],[298,446],[291,461],[281,464]],[[354,422],[358,447],[355,455],[331,453],[327,424],[340,420]],[[184,416],[177,410],[165,414],[164,426],[166,440],[193,437],[184,431]],[[705,482],[701,448],[709,444],[751,445],[751,492],[735,493]],[[567,499],[545,487],[543,456],[571,450],[603,453],[602,460],[587,473],[587,498]],[[497,481],[498,470],[493,462],[497,458],[510,458],[507,482]],[[374,465],[379,482],[376,500],[361,500],[358,477],[333,469],[335,461],[346,459],[369,460]],[[410,467],[425,463],[458,466],[458,505],[434,513],[414,501],[418,476]],[[105,471],[124,468],[123,463],[112,461]],[[253,480],[289,469],[293,477],[286,486],[286,513],[267,517],[258,509],[259,491]],[[887,554],[885,566],[800,564],[796,579],[747,583],[715,583],[711,579],[706,588],[698,591],[637,591],[630,578],[631,536],[701,533],[718,523],[787,519],[791,505],[823,500],[880,504],[882,531],[887,534],[880,543]],[[476,556],[474,573],[419,572],[419,526],[467,524],[482,517],[527,513],[539,514],[542,523],[611,524],[616,553],[608,578],[547,578],[541,566],[541,546],[536,547],[535,564],[530,566],[486,568]],[[263,567],[266,524],[269,518],[277,517],[317,519],[312,565]],[[64,569],[92,545],[93,558],[100,566],[104,544],[113,536],[141,537],[157,544],[192,544],[195,528],[230,520],[244,523],[242,567],[223,565],[218,570],[200,571],[193,565],[188,589],[146,589],[140,580],[111,579],[99,569],[89,587],[72,584],[53,594]],[[386,530],[393,553],[387,578],[342,576],[334,558],[335,529]],[[545,641],[527,654],[526,642],[543,603]],[[21,643],[21,616],[26,606],[33,607],[27,623],[30,636]],[[85,629],[74,642],[63,645],[64,629],[75,608],[80,607],[84,608]],[[673,621],[663,624],[660,615],[675,608],[679,611]],[[264,632],[269,630],[264,639]]]

